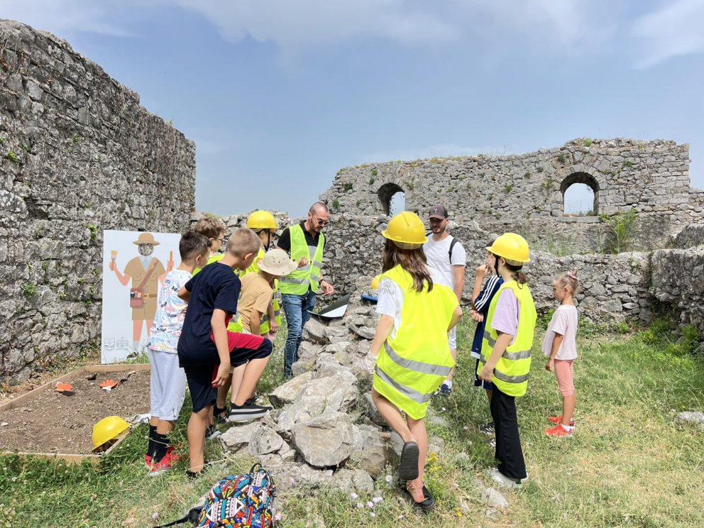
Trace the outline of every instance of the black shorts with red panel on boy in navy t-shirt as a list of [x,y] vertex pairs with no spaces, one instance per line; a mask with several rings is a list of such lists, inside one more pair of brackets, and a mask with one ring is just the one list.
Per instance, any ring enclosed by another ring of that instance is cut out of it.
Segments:
[[[228,332],[228,337],[234,332]],[[271,356],[272,342],[260,336],[251,334],[235,334],[242,336],[237,343],[243,346],[234,346],[233,339],[230,339],[230,364],[233,367],[244,365],[253,359],[263,359]],[[253,339],[252,339],[253,338]],[[189,365],[184,367],[188,390],[191,393],[193,402],[193,412],[215,404],[218,399],[218,389],[213,387],[213,379],[218,374],[218,364],[215,365]]]

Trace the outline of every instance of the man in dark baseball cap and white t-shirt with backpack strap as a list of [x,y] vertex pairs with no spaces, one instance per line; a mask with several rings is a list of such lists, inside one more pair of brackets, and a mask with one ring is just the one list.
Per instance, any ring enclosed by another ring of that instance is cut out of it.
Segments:
[[[448,212],[440,204],[430,208],[428,213],[432,236],[423,245],[423,251],[428,259],[428,265],[440,272],[441,284],[455,291],[458,301],[462,301],[462,290],[465,286],[465,264],[467,253],[462,244],[447,232]],[[457,332],[453,328],[448,334],[448,342],[452,357],[457,362]],[[454,369],[438,389],[438,394],[448,396],[452,392]]]

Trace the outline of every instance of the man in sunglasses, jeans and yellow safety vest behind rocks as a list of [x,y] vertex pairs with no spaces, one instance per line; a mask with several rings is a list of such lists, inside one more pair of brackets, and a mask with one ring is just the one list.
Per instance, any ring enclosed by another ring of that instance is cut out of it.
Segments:
[[298,269],[279,279],[284,301],[284,313],[289,334],[284,349],[284,376],[291,377],[291,365],[298,360],[298,346],[303,339],[303,327],[315,308],[315,294],[334,293],[332,284],[322,278],[322,254],[325,250],[323,228],[329,224],[330,213],[325,203],[313,203],[308,218],[287,227],[279,237],[277,247],[287,251],[298,261]]

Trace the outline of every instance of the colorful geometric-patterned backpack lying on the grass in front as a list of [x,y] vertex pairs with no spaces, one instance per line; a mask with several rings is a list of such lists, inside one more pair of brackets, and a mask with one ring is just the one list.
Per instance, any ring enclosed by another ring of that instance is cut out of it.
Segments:
[[271,505],[275,494],[274,479],[261,464],[255,464],[249,473],[227,475],[215,484],[203,508],[193,508],[182,519],[158,528],[189,520],[203,528],[273,528]]

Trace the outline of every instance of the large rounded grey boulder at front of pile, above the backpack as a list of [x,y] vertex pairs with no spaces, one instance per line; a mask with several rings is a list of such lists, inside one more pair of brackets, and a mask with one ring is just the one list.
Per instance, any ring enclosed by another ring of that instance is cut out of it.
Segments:
[[332,467],[349,458],[352,419],[343,413],[326,412],[291,428],[291,441],[304,460],[315,467]]

